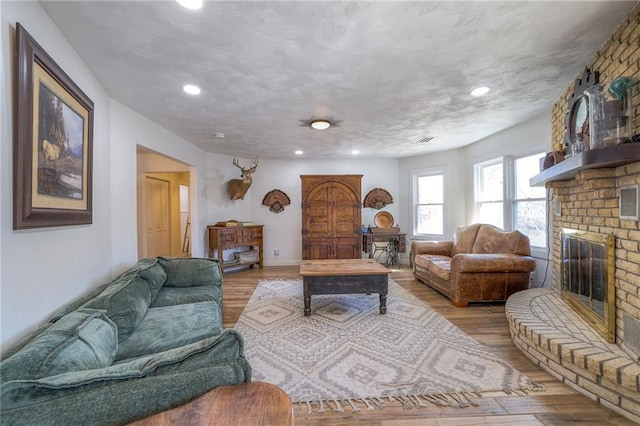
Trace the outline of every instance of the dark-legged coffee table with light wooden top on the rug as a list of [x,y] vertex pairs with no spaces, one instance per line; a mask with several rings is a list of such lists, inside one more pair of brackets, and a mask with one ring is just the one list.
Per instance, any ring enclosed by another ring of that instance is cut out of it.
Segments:
[[303,260],[304,316],[311,315],[311,296],[317,294],[378,293],[380,313],[387,313],[391,271],[372,259]]

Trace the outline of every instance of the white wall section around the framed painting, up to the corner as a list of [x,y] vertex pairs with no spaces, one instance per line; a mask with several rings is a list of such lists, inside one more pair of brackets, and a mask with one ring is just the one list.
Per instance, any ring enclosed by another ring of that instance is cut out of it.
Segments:
[[[2,22],[2,315],[4,345],[16,340],[78,294],[110,278],[111,160],[109,96],[37,2],[0,4]],[[93,224],[14,231],[12,143],[15,23],[33,38],[93,100]]]

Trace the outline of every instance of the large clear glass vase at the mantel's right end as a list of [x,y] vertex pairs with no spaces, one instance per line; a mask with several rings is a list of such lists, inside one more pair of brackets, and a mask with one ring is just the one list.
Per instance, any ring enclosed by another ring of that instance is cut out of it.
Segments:
[[629,142],[633,136],[631,77],[619,77],[584,91],[589,100],[590,149]]

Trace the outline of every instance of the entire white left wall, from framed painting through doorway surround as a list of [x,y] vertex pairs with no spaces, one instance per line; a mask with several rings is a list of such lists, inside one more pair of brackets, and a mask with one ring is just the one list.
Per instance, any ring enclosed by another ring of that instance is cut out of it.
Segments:
[[[136,149],[143,146],[189,165],[192,252],[203,256],[208,223],[207,154],[112,100],[37,2],[0,3],[1,344],[18,340],[58,307],[136,262]],[[93,223],[12,229],[13,32],[20,22],[94,102]]]

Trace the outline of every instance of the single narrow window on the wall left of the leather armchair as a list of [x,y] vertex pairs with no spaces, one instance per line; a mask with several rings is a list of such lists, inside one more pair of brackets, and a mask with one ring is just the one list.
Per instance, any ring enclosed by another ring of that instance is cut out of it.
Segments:
[[444,235],[444,172],[413,175],[414,235]]

